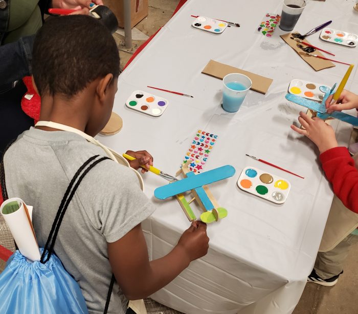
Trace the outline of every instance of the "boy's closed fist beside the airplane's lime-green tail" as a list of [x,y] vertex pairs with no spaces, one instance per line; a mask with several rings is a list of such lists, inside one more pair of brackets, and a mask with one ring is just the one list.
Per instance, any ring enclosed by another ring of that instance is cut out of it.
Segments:
[[209,249],[206,224],[200,221],[193,221],[191,226],[182,234],[177,246],[184,249],[190,261],[206,255]]

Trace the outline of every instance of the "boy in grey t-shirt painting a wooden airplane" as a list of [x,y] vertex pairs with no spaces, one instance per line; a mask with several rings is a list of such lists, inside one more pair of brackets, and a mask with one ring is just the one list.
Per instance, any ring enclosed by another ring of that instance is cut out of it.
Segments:
[[[47,21],[36,36],[32,66],[40,120],[90,136],[102,130],[117,92],[119,56],[100,22],[81,15]],[[146,151],[128,153],[137,158],[130,162],[133,168],[152,164]],[[75,172],[94,155],[106,153],[79,134],[50,126],[24,132],[6,152],[8,196],[34,206],[39,246],[46,243]],[[127,298],[158,291],[207,253],[206,225],[193,222],[170,253],[149,261],[141,222],[153,210],[136,174],[112,160],[98,164],[81,182],[64,215],[55,253],[79,283],[90,313],[103,312],[112,272],[116,283],[108,313],[122,314]]]

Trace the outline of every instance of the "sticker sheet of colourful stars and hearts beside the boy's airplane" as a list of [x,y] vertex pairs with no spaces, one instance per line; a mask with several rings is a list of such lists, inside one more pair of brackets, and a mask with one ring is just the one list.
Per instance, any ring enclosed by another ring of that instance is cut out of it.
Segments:
[[182,163],[188,163],[190,171],[200,173],[208,161],[217,137],[217,135],[210,132],[198,130]]

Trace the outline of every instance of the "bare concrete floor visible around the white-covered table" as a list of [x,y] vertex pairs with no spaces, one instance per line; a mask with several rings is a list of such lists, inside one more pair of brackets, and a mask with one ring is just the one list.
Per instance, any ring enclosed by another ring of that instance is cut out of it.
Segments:
[[[149,14],[142,20],[136,29],[147,36],[154,34],[171,17],[178,0],[149,0]],[[134,32],[133,32],[134,33]],[[143,43],[144,39],[134,39],[132,48],[124,49],[123,36],[114,35],[118,44],[121,68],[131,57],[132,53]],[[135,38],[133,36],[133,38]],[[356,133],[358,134],[358,132]],[[356,137],[354,135],[354,138]],[[0,261],[0,272],[4,269],[5,263]],[[357,246],[352,247],[344,266],[344,274],[341,275],[338,283],[333,287],[323,287],[314,283],[307,283],[301,300],[298,303],[294,314],[357,314],[358,307],[356,297],[358,291],[358,250]],[[148,314],[180,314],[161,304],[146,299]],[[200,314],[200,313],[198,313]],[[258,313],[260,314],[260,313]]]

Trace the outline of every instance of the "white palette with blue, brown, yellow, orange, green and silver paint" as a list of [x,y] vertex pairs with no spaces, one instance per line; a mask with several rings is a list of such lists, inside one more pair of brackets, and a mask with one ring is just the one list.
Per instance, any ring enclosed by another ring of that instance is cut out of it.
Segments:
[[286,201],[291,188],[291,184],[286,179],[251,166],[242,170],[237,186],[243,191],[276,204]]

